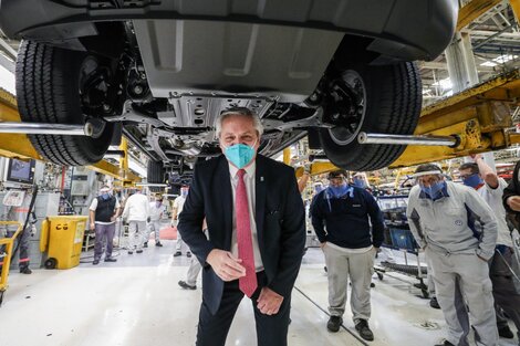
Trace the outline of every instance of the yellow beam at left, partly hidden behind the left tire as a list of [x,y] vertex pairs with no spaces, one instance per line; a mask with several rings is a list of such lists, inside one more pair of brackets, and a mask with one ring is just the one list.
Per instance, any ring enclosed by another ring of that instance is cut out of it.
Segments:
[[[17,109],[17,99],[10,93],[0,88],[0,122],[17,122],[20,123],[20,114]],[[125,144],[125,145],[124,145]],[[137,182],[141,178],[128,169],[128,159],[126,155],[126,138],[123,138],[122,149],[125,148],[125,156],[122,159],[123,164],[119,166],[112,165],[102,160],[89,169],[111,176],[123,182]],[[44,160],[34,149],[27,135],[23,134],[0,134],[0,156],[9,158],[35,159]]]

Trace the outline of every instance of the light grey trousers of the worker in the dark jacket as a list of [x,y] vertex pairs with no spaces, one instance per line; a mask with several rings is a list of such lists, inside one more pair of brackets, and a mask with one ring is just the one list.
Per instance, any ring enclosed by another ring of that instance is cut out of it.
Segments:
[[371,317],[371,282],[374,273],[374,251],[343,252],[333,247],[323,248],[329,279],[329,312],[343,316],[346,305],[349,275],[352,282],[351,310],[354,323]]

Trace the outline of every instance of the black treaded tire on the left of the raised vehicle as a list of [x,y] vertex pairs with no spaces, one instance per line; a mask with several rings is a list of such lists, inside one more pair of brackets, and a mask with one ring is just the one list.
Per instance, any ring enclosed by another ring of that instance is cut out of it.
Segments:
[[[22,122],[84,125],[80,95],[84,62],[95,61],[84,52],[44,43],[22,41],[17,60],[17,98]],[[94,137],[29,135],[37,151],[46,160],[65,166],[100,161],[111,145],[114,125]]]

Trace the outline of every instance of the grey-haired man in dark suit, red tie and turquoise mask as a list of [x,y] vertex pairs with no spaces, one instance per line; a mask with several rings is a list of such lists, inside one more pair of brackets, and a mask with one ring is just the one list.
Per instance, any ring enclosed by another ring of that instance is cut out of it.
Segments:
[[[294,170],[257,155],[259,118],[247,108],[221,114],[225,155],[196,166],[178,230],[202,264],[197,345],[226,344],[243,295],[251,298],[260,346],[287,345],[291,291],[305,243]],[[209,240],[202,233],[208,224]]]

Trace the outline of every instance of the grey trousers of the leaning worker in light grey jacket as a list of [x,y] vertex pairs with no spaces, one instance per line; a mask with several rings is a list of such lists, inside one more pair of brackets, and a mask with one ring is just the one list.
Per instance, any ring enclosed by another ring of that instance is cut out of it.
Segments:
[[469,345],[466,298],[475,342],[479,346],[496,346],[498,331],[488,263],[476,253],[449,254],[429,248],[425,252],[429,256],[437,301],[448,325],[447,340],[457,346]]

